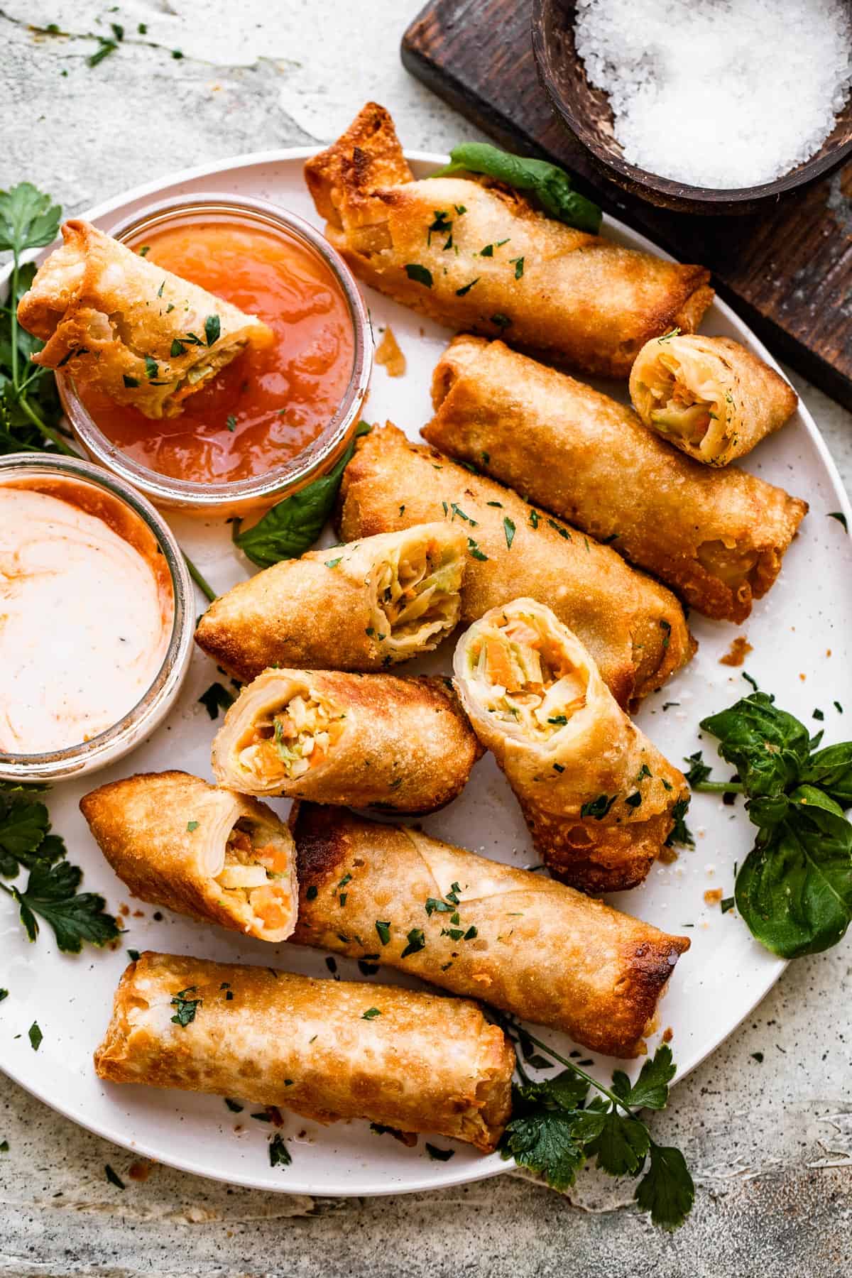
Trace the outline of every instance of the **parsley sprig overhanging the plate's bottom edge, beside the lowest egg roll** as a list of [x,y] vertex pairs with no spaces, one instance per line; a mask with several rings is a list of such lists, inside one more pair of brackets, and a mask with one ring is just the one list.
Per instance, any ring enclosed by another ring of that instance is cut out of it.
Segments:
[[[499,1017],[515,1043],[520,1084],[512,1086],[512,1117],[501,1140],[503,1158],[543,1176],[556,1190],[570,1189],[585,1163],[594,1158],[609,1176],[640,1177],[634,1197],[651,1222],[673,1231],[692,1209],[695,1186],[686,1160],[673,1145],[658,1145],[637,1109],[664,1109],[668,1085],[677,1067],[663,1043],[645,1061],[636,1082],[616,1070],[607,1088],[552,1047],[521,1030],[511,1017]],[[519,1052],[520,1048],[520,1052]],[[539,1048],[545,1059],[533,1052]],[[524,1059],[535,1068],[565,1066],[561,1074],[533,1081]],[[598,1095],[588,1099],[589,1089]]]

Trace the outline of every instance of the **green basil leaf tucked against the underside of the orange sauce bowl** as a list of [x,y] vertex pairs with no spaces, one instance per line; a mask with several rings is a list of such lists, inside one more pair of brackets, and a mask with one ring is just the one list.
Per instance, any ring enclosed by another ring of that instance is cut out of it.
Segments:
[[245,532],[240,532],[240,525],[234,524],[234,543],[253,564],[270,567],[282,558],[298,558],[313,546],[333,510],[340,481],[355,449],[355,438],[367,435],[369,429],[367,422],[358,424],[353,441],[327,475],[314,479],[291,497],[285,497]]

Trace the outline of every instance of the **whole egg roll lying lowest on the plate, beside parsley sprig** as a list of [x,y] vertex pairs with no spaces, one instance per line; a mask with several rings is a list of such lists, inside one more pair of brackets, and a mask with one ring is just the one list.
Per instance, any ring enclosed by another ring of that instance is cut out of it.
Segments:
[[151,951],[121,976],[95,1053],[111,1082],[240,1097],[322,1123],[368,1118],[485,1153],[508,1120],[513,1066],[503,1031],[469,999]]

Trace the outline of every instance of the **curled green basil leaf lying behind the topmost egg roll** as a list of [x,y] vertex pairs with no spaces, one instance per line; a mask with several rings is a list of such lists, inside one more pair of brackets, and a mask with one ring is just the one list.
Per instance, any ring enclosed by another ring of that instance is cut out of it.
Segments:
[[574,189],[565,169],[548,164],[547,160],[512,155],[488,142],[464,142],[450,152],[450,164],[432,176],[443,178],[461,171],[482,173],[516,190],[529,192],[549,217],[577,230],[590,231],[593,235],[600,230],[602,213],[598,206]]

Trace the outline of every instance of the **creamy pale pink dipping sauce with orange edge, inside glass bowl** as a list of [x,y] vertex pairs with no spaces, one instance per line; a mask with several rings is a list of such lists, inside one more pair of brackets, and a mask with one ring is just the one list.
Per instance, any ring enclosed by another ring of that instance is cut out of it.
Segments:
[[0,484],[0,753],[47,754],[120,722],[174,621],[156,539],[118,497],[68,479]]

